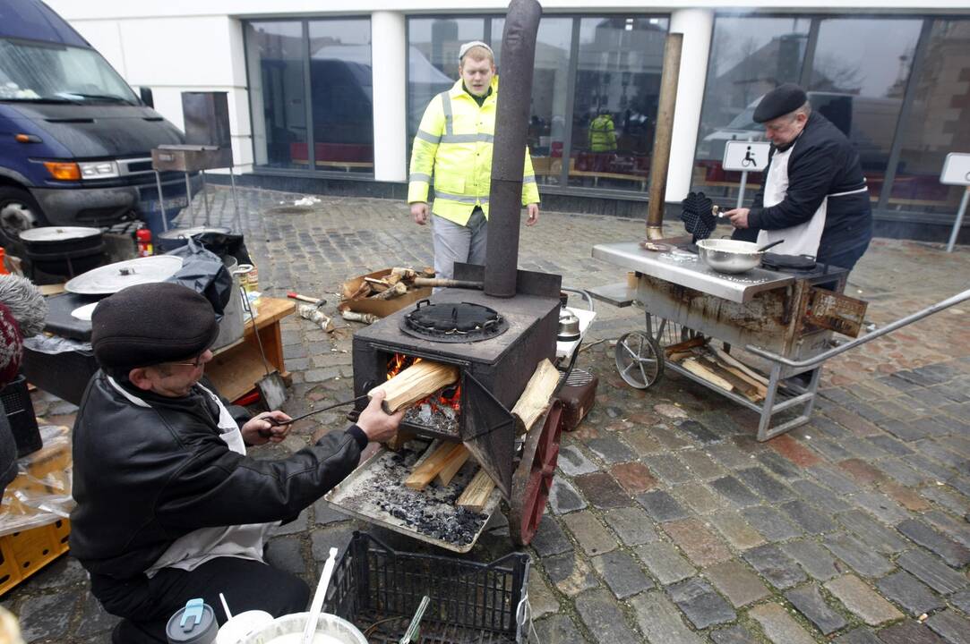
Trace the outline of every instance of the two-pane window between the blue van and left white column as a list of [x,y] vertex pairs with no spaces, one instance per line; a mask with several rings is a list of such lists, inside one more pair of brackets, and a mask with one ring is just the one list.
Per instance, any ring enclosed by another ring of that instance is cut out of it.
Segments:
[[245,24],[256,165],[372,172],[371,20]]

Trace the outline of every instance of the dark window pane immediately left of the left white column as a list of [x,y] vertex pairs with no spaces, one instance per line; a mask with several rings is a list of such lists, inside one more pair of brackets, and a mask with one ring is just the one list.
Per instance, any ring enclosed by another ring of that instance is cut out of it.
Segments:
[[373,171],[371,20],[311,20],[316,169]]

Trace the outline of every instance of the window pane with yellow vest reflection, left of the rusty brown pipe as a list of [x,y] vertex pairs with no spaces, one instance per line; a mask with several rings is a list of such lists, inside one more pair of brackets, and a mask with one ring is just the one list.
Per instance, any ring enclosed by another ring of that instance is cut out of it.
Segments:
[[667,20],[582,18],[569,185],[646,190]]

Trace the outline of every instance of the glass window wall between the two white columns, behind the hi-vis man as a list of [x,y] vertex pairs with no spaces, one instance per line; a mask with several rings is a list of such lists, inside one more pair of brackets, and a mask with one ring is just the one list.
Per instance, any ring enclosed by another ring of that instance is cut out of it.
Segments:
[[[458,78],[463,43],[492,45],[501,77],[503,28],[499,16],[407,20],[408,146]],[[646,190],[666,30],[663,16],[542,17],[529,128],[539,183]]]

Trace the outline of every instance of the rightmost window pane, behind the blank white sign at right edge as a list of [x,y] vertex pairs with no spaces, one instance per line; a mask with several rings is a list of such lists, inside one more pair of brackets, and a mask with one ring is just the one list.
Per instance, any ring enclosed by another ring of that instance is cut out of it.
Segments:
[[940,183],[949,152],[970,152],[970,20],[934,21],[889,195],[889,210],[954,215],[963,186]]

